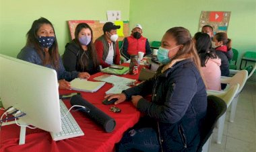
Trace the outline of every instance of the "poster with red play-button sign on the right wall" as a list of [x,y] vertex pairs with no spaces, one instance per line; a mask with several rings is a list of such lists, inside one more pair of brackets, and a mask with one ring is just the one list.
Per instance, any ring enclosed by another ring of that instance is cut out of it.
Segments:
[[231,11],[201,11],[199,31],[205,25],[214,28],[214,34],[228,32]]

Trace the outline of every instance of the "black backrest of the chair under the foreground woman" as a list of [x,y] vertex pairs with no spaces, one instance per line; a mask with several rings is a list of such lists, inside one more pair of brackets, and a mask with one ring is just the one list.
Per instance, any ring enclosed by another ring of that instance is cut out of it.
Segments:
[[217,96],[207,96],[207,114],[201,126],[201,141],[198,151],[201,150],[203,145],[212,135],[214,126],[216,125],[220,116],[226,112],[226,108],[226,103],[221,98],[218,98]]

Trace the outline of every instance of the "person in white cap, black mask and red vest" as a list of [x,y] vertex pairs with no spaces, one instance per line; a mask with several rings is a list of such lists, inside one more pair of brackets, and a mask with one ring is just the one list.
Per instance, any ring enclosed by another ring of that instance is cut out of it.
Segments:
[[150,43],[141,34],[142,27],[140,24],[136,24],[131,30],[131,36],[123,39],[121,54],[125,59],[129,60],[131,54],[137,55],[138,52],[144,52],[144,56],[151,54]]

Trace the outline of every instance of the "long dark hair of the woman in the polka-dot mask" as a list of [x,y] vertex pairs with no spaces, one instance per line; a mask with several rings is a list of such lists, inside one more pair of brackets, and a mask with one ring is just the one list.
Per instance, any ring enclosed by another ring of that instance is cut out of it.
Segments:
[[[59,68],[59,49],[58,49],[58,42],[55,35],[55,41],[53,42],[53,45],[49,48],[49,56],[50,61],[47,61],[47,59],[44,57],[44,51],[43,47],[38,42],[38,35],[37,32],[39,28],[42,26],[42,24],[50,24],[53,28],[53,24],[49,20],[47,20],[44,17],[40,17],[38,20],[35,20],[26,34],[27,36],[27,42],[26,46],[32,46],[36,49],[36,52],[40,55],[40,59],[42,60],[42,65],[46,65],[46,63],[50,62],[53,67],[56,69]],[[53,32],[55,33],[55,30],[53,28]]]

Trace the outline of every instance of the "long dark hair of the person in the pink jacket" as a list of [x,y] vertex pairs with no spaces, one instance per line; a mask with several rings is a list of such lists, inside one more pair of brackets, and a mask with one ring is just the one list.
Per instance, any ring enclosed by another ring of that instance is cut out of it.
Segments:
[[197,38],[195,38],[195,48],[197,48],[197,52],[199,54],[199,58],[201,60],[201,67],[205,67],[205,63],[211,58],[216,59],[217,55],[215,49],[212,48],[212,40],[210,36],[206,33],[198,34]]

